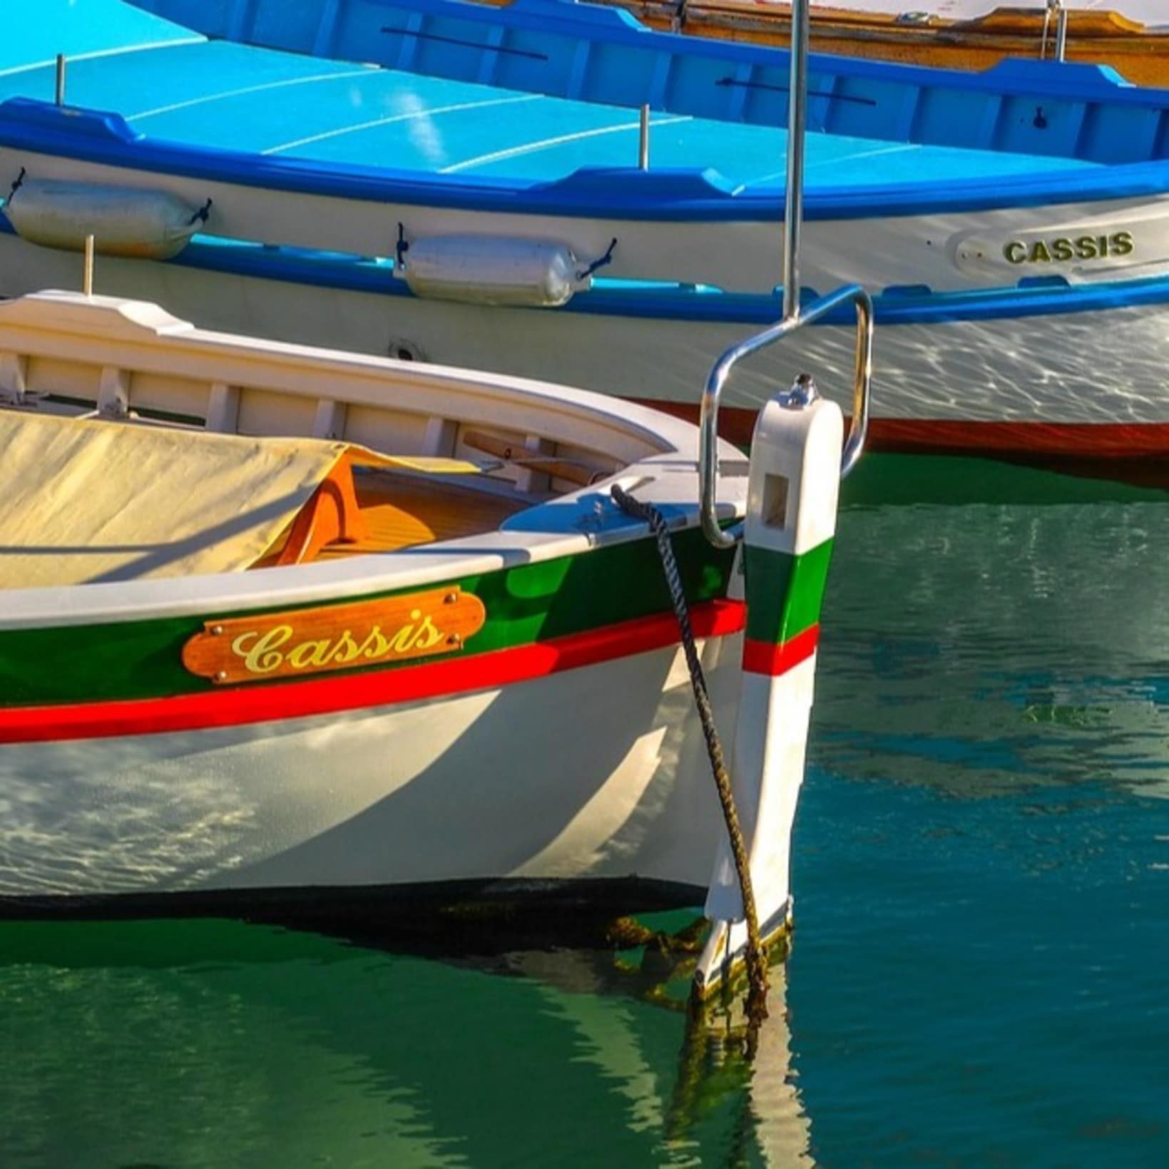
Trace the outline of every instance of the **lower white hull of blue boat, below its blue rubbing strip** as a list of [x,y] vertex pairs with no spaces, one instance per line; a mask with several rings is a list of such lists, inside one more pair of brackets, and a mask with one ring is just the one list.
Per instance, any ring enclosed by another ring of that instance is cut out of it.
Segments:
[[[14,293],[69,288],[78,283],[79,260],[0,236],[0,271]],[[99,261],[96,282],[103,292],[157,300],[210,328],[559,379],[687,409],[713,358],[758,327],[482,307],[115,258]],[[1167,321],[1169,306],[1150,304],[883,327],[874,449],[1164,455]],[[851,326],[816,326],[736,371],[724,395],[725,433],[746,441],[759,406],[804,368],[846,402],[852,351]]]

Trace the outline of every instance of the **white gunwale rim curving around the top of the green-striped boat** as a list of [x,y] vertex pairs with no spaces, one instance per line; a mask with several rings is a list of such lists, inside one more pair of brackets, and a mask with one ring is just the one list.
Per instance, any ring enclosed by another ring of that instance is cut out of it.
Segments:
[[[208,365],[219,361],[229,366],[237,355],[230,352],[233,347],[243,351],[244,359],[250,357],[265,364],[283,361],[296,368],[316,365],[314,372],[353,365],[371,376],[381,374],[387,381],[426,383],[429,380],[436,390],[445,386],[455,393],[490,392],[502,400],[519,400],[520,406],[527,401],[533,409],[537,406],[553,413],[563,409],[566,423],[575,414],[594,424],[620,430],[656,450],[623,465],[595,485],[533,502],[498,528],[473,535],[394,552],[369,552],[255,572],[5,589],[0,631],[166,620],[199,615],[208,609],[227,615],[228,611],[275,611],[290,604],[339,603],[358,596],[406,592],[523,565],[587,555],[646,539],[645,525],[625,516],[610,500],[609,489],[615,483],[625,490],[636,489],[641,498],[656,503],[675,526],[698,526],[698,428],[672,415],[625,402],[620,403],[618,409],[615,400],[606,395],[533,379],[200,330],[166,313],[144,324],[130,318],[140,313],[144,306],[154,309],[153,305],[116,297],[87,302],[77,293],[50,292],[7,302],[0,305],[0,344],[7,341],[6,334],[19,337],[21,332],[35,337],[16,346],[21,353],[51,352],[60,338],[69,338],[76,345],[81,337],[84,344],[88,340],[84,328],[68,317],[54,321],[54,306],[63,307],[65,313],[77,307],[87,313],[92,311],[95,325],[103,319],[129,319],[129,333],[111,334],[109,345],[127,341],[129,337],[130,344],[152,350],[155,364],[165,361],[166,353],[173,353],[177,347],[198,351],[203,345]],[[37,323],[42,311],[46,319]],[[147,362],[145,368],[150,366]],[[390,409],[401,406],[393,401],[386,404]],[[416,413],[426,414],[426,410],[420,407]],[[566,434],[560,441],[570,443],[570,435]],[[740,473],[742,459],[738,450],[722,442],[720,454],[722,514],[731,520],[743,514],[746,479]],[[682,473],[679,462],[684,465]],[[728,468],[734,470],[733,475],[727,473]],[[689,490],[683,491],[683,485]]]

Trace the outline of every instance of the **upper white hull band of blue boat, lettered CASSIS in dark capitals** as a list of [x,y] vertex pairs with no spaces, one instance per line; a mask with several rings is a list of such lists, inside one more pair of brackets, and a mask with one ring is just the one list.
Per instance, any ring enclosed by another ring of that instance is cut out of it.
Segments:
[[[71,119],[76,120],[76,119]],[[90,118],[91,133],[116,146],[123,132],[108,130],[104,119]],[[124,131],[129,133],[129,131]],[[137,147],[131,147],[137,148]],[[181,165],[175,161],[175,165]],[[39,153],[0,145],[0,178],[64,180],[92,186],[95,205],[104,188],[126,188],[178,195],[193,208],[212,200],[208,234],[275,247],[346,253],[393,258],[401,233],[411,241],[449,235],[498,241],[537,240],[572,250],[581,269],[607,256],[603,275],[615,279],[660,281],[713,285],[733,292],[767,293],[782,267],[782,233],[772,217],[750,217],[770,210],[756,200],[741,209],[706,180],[698,181],[692,202],[725,201],[725,215],[675,208],[638,206],[658,184],[653,172],[629,168],[568,179],[556,186],[549,205],[587,206],[603,188],[606,201],[623,203],[636,214],[541,214],[539,203],[514,213],[475,206],[443,206],[416,194],[394,198],[392,188],[373,198],[346,195],[343,182],[318,184],[298,177],[288,185],[275,173],[268,181],[230,181],[141,167],[112,166],[69,154]],[[358,185],[354,184],[354,187]],[[402,192],[406,194],[406,192]],[[18,187],[15,209],[27,199]],[[1169,272],[1169,194],[1140,198],[1067,196],[1066,202],[1043,202],[971,209],[945,202],[915,206],[908,198],[892,214],[873,217],[863,199],[848,200],[828,217],[811,217],[804,227],[801,275],[807,288],[825,289],[852,281],[872,289],[926,288],[934,292],[963,289],[1010,289],[1019,279],[1056,278],[1067,284],[1140,279]],[[516,206],[523,208],[517,199]],[[909,209],[914,208],[914,209]],[[738,214],[736,214],[738,213]],[[746,216],[746,217],[743,217]],[[403,254],[408,262],[408,251]],[[0,289],[0,291],[7,291]]]

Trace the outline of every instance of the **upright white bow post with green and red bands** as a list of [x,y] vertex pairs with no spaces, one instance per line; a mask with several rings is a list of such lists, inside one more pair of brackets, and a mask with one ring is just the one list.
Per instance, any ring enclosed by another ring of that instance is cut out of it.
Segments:
[[[789,913],[789,858],[811,715],[819,609],[836,533],[844,420],[835,402],[773,397],[750,447],[740,549],[747,601],[731,776],[765,940]],[[706,897],[699,985],[742,953],[742,898],[724,836]]]

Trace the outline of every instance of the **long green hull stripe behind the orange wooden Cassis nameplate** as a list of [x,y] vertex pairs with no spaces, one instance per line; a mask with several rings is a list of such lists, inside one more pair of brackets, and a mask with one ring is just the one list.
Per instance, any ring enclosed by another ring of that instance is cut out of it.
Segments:
[[[691,603],[726,596],[732,552],[715,551],[697,528],[679,532],[675,548]],[[435,582],[427,588],[438,588],[442,583],[457,583],[476,594],[486,607],[486,623],[466,643],[469,655],[563,637],[670,609],[662,562],[650,539]],[[411,592],[416,588],[341,597],[336,603]],[[284,603],[243,611],[272,613],[286,608]],[[206,620],[231,617],[238,611],[0,631],[0,706],[160,698],[209,690],[213,686],[209,680],[184,669],[182,645],[203,628]],[[403,662],[372,669],[409,665]]]

